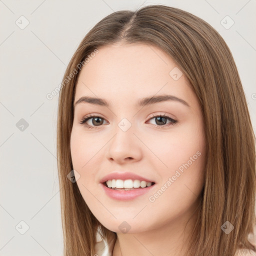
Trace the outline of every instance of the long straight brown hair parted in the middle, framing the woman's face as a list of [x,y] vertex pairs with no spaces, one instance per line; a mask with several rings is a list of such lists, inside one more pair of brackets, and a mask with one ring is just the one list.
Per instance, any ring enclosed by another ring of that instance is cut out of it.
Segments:
[[[238,248],[256,251],[248,240],[256,223],[255,136],[232,54],[218,32],[202,19],[178,8],[148,5],[116,11],[100,20],[82,39],[66,68],[57,120],[64,255],[91,256],[97,227],[104,236],[112,232],[94,217],[67,174],[73,169],[70,133],[79,63],[84,65],[84,59],[100,46],[120,41],[154,45],[169,54],[200,103],[205,180],[187,254],[233,256]],[[226,221],[234,227],[228,234],[220,228]]]

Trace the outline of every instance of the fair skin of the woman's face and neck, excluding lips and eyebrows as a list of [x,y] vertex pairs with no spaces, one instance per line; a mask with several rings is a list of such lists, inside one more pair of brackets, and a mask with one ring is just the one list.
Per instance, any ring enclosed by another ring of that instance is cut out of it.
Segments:
[[[74,108],[70,149],[81,195],[100,223],[117,233],[113,256],[185,255],[205,165],[198,100],[184,75],[178,80],[169,75],[177,65],[161,49],[118,43],[98,50],[79,73],[74,102],[86,95],[104,98],[110,107],[83,102]],[[135,105],[139,98],[160,94],[181,98],[189,107],[178,101]],[[86,122],[95,128],[79,124],[90,113],[103,118],[99,124],[93,118]],[[161,125],[152,114],[166,114],[178,122],[170,124],[165,119]],[[131,123],[125,132],[118,127],[122,118]],[[197,151],[200,156],[158,198],[149,201]],[[114,200],[99,183],[113,171],[138,173],[154,180],[155,187],[132,200]],[[127,233],[118,228],[123,221],[130,226]]]

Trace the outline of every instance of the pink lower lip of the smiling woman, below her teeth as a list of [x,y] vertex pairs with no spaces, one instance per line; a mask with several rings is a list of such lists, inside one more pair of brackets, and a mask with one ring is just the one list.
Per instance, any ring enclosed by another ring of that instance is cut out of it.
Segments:
[[147,186],[144,188],[135,188],[132,190],[115,190],[105,186],[103,183],[100,183],[100,185],[103,187],[106,195],[108,195],[109,197],[115,200],[131,200],[139,195],[142,195],[148,192],[150,189],[152,189],[155,183],[151,186]]

